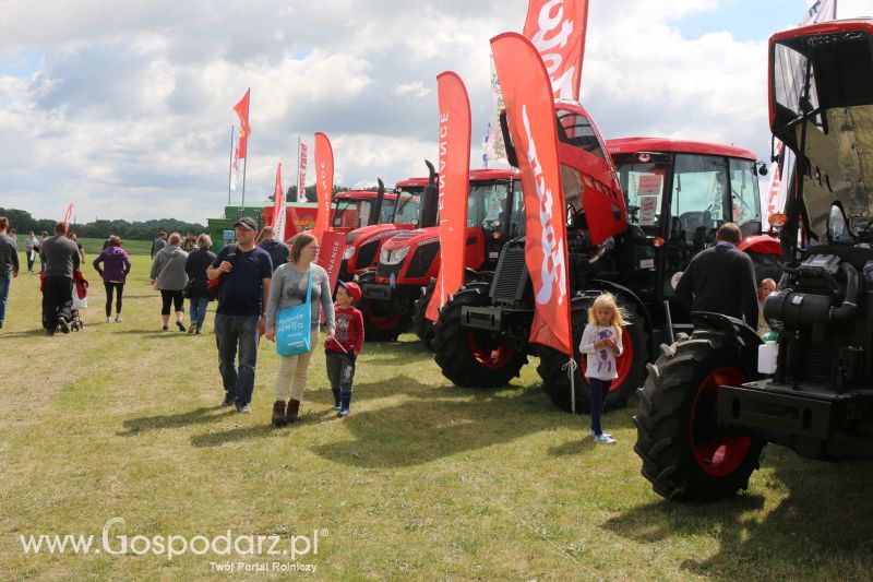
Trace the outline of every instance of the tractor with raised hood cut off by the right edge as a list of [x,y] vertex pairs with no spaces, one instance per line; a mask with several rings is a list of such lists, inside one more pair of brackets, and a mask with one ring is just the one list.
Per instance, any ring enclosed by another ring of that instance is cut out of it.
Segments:
[[745,489],[762,447],[873,459],[873,21],[769,39],[773,134],[797,157],[780,233],[785,275],[764,304],[776,341],[714,313],[662,346],[639,391],[634,450],[656,492]]

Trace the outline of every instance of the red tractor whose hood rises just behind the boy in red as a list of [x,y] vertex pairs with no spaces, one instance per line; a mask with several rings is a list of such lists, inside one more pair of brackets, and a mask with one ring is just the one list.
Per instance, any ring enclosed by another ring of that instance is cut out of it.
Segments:
[[370,207],[369,223],[349,231],[346,237],[346,250],[339,268],[340,281],[351,281],[372,270],[379,260],[382,245],[388,238],[418,225],[421,195],[428,178],[402,180],[391,193],[384,193],[382,180],[379,185],[382,197],[376,198]]

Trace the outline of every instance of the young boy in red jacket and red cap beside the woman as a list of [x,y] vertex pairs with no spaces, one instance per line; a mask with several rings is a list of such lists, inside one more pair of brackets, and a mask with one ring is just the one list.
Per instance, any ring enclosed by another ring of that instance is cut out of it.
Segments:
[[363,347],[363,316],[351,302],[361,298],[357,283],[343,283],[336,288],[336,333],[324,344],[327,360],[327,378],[334,392],[336,416],[349,415],[351,382],[355,379],[355,360]]

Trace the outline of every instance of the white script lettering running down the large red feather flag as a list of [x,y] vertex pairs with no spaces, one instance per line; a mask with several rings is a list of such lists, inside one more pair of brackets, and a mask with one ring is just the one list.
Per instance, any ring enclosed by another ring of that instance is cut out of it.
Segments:
[[534,183],[537,188],[539,199],[539,224],[542,228],[540,234],[540,246],[542,247],[542,286],[537,292],[537,302],[546,305],[551,301],[552,287],[558,283],[558,305],[562,305],[566,296],[566,273],[564,270],[564,241],[557,237],[554,231],[554,215],[552,214],[553,198],[552,191],[546,187],[546,177],[542,175],[542,166],[537,157],[537,145],[530,133],[530,121],[527,119],[527,105],[522,105],[522,120],[525,124],[527,135],[527,161],[534,169]]

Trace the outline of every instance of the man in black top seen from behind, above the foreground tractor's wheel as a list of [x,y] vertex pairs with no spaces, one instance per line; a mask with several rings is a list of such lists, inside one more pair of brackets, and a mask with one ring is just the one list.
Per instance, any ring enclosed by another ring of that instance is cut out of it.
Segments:
[[[690,311],[711,311],[757,325],[757,292],[752,258],[737,250],[740,227],[725,223],[716,233],[716,246],[695,256],[682,273],[675,295]],[[698,325],[695,321],[695,326]]]

